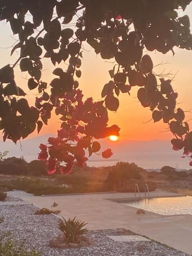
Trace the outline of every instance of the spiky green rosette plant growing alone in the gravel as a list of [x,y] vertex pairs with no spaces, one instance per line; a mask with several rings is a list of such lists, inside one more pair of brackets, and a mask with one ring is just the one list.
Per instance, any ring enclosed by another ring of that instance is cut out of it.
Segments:
[[77,243],[78,238],[88,232],[87,228],[83,228],[86,224],[81,220],[76,220],[76,217],[68,220],[62,217],[59,220],[59,229],[64,234],[67,242]]

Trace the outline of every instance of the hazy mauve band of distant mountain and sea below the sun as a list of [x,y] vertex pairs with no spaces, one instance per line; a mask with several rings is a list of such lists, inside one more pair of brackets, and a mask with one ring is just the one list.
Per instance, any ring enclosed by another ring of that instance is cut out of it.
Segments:
[[[40,152],[39,144],[46,144],[50,136],[54,137],[56,135],[46,134],[32,139],[22,140],[22,150],[20,149],[20,143],[15,145],[11,141],[0,141],[0,151],[8,150],[8,156],[23,156],[26,161],[30,162],[37,159],[38,152]],[[107,138],[100,142],[102,144],[102,150],[106,148],[112,149],[113,156],[110,158],[111,161],[105,161],[101,156],[93,154],[89,159],[90,161],[88,161],[88,165],[90,166],[93,166],[94,162],[97,162],[96,166],[109,166],[112,165],[112,161],[121,160],[135,162],[138,166],[147,169],[158,169],[164,165],[189,169],[188,160],[181,158],[182,151],[177,152],[172,150],[172,145],[168,140],[118,140],[112,142]]]

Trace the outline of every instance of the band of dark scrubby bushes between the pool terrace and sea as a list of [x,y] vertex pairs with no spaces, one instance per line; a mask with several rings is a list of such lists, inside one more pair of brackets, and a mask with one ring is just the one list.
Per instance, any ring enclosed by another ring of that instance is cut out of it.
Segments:
[[[46,173],[44,161],[27,163],[23,158],[6,158],[0,161],[0,191],[23,190],[36,196],[47,194],[75,194],[94,192],[134,192],[137,183],[144,192],[161,188],[159,184],[192,180],[192,174],[177,172],[164,166],[161,172],[147,172],[134,163],[118,162],[102,168],[74,167],[70,175]],[[1,198],[1,194],[0,194]],[[1,199],[0,199],[1,200]]]

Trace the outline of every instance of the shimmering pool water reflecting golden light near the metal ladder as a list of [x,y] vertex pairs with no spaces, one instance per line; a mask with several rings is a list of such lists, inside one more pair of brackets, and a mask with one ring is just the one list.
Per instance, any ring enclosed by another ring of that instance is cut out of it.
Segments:
[[191,196],[139,199],[122,202],[122,204],[160,215],[192,215]]

